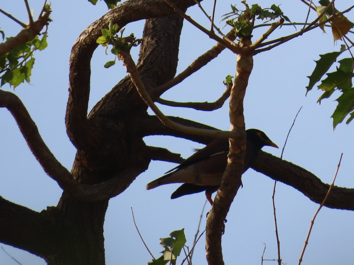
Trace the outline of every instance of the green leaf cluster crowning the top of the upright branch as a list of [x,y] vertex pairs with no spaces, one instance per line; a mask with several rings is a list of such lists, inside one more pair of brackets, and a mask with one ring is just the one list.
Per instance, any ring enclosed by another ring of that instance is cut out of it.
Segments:
[[[276,18],[284,18],[286,21],[290,22],[290,19],[287,16],[284,16],[284,13],[281,11],[279,6],[273,4],[270,8],[262,8],[258,4],[254,4],[249,7],[246,4],[246,1],[242,1],[246,6],[245,10],[238,10],[236,5],[231,5],[232,11],[223,15],[223,20],[226,20],[226,24],[230,25],[235,30],[235,36],[242,40],[243,37],[249,36],[252,34],[253,27],[255,24],[255,19],[261,19],[265,21],[263,23],[269,22]],[[233,17],[229,19],[230,17]]]

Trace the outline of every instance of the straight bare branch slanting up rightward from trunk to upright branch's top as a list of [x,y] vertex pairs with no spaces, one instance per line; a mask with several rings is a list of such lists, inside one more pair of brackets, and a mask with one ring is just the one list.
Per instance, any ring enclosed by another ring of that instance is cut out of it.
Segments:
[[[230,30],[228,34],[226,34],[227,38],[230,40],[235,40],[235,32],[234,30]],[[201,69],[201,67],[205,66],[212,59],[216,58],[223,50],[225,46],[221,45],[219,42],[216,43],[209,51],[200,55],[197,59],[193,61],[183,72],[179,73],[175,78],[171,79],[169,82],[156,87],[154,89],[154,95],[159,97],[162,93],[166,92],[169,88],[176,86],[181,83],[185,78],[192,75],[194,72]]]

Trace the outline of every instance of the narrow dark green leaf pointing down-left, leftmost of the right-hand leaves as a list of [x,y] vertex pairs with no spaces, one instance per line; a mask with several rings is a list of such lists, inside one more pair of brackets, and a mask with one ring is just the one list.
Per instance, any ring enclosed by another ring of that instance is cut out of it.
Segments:
[[339,52],[331,52],[326,54],[320,54],[320,59],[316,62],[316,67],[312,74],[308,76],[310,78],[309,85],[306,87],[306,94],[313,88],[313,86],[321,80],[322,76],[330,69],[332,64],[337,60],[339,54],[341,54],[346,49],[345,45],[341,45],[341,50]]

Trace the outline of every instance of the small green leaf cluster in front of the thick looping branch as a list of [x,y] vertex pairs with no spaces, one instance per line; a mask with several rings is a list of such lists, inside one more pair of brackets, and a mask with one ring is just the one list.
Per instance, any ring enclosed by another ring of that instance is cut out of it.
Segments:
[[120,36],[117,34],[119,26],[113,24],[112,21],[109,22],[108,29],[102,29],[102,36],[98,37],[97,43],[106,47],[105,53],[107,54],[107,49],[109,45],[112,45],[111,53],[115,56],[114,61],[108,61],[104,64],[105,68],[111,67],[115,64],[115,59],[120,51],[129,51],[131,47],[136,47],[140,44],[141,39],[136,39],[134,34],[130,34],[127,37],[123,37],[124,28],[120,30]]

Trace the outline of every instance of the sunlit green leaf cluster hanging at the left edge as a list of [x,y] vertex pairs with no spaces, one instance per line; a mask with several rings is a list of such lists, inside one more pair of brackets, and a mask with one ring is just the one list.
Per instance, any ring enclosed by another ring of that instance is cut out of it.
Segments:
[[36,50],[42,51],[47,46],[47,35],[43,35],[41,39],[35,36],[33,40],[22,43],[10,52],[5,53],[0,58],[0,75],[2,74],[0,86],[9,83],[15,89],[24,81],[29,83],[35,60],[33,52]]

